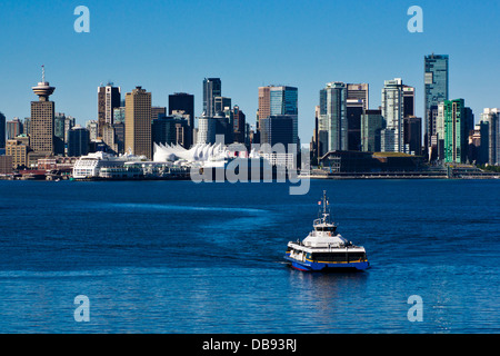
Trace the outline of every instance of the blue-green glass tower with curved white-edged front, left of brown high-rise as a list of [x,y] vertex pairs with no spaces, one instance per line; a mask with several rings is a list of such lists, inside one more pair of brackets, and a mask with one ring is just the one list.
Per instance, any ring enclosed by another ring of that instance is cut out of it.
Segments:
[[328,132],[328,151],[349,149],[347,86],[343,82],[329,82],[320,90],[319,131]]

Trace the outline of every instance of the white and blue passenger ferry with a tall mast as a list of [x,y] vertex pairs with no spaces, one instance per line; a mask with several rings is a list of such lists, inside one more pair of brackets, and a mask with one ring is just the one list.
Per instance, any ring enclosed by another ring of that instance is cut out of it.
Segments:
[[291,267],[304,271],[364,270],[370,264],[364,247],[354,246],[337,233],[327,209],[327,194],[323,191],[320,218],[313,222],[313,230],[302,241],[288,243],[284,259]]

